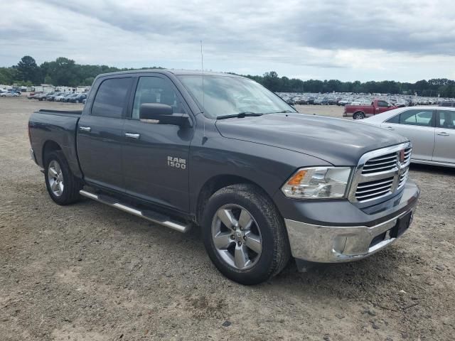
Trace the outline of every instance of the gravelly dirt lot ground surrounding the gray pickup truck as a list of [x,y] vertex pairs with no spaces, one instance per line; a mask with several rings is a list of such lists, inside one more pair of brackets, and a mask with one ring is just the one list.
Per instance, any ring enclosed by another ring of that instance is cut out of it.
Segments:
[[0,98],[1,340],[455,340],[455,170],[412,166],[422,197],[392,247],[245,287],[210,264],[198,229],[53,204],[28,155],[43,107],[80,105]]

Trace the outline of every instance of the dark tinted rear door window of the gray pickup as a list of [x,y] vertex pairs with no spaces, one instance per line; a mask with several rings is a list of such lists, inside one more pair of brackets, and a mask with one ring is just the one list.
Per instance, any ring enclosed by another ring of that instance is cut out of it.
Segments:
[[121,118],[131,82],[131,78],[112,78],[102,82],[93,102],[92,115]]

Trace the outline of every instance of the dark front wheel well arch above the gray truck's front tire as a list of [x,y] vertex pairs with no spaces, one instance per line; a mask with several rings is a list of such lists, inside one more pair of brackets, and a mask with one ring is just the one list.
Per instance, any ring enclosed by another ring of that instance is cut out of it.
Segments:
[[238,183],[250,183],[252,185],[255,185],[257,188],[259,188],[259,190],[263,192],[264,195],[267,195],[267,197],[269,197],[269,195],[259,185],[257,185],[257,183],[254,183],[247,178],[242,178],[241,176],[237,175],[217,175],[207,180],[199,192],[198,206],[196,207],[196,222],[198,224],[202,222],[205,205],[213,193],[215,193],[217,190],[220,190],[221,188],[225,188],[229,185],[235,185]]

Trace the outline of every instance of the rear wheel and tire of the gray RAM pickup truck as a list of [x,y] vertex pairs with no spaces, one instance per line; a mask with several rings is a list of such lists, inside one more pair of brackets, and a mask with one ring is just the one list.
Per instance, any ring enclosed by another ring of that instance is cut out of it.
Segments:
[[70,205],[80,200],[82,181],[76,178],[68,166],[62,151],[51,151],[44,161],[45,187],[50,198],[58,205]]

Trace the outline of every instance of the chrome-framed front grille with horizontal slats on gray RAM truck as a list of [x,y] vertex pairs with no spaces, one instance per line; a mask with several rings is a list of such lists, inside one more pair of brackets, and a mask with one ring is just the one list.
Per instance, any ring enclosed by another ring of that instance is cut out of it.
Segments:
[[349,200],[374,205],[395,195],[406,183],[411,153],[410,142],[365,153],[355,169]]

